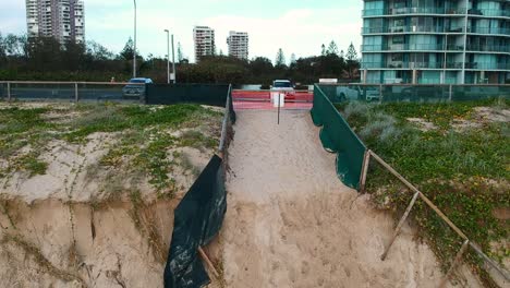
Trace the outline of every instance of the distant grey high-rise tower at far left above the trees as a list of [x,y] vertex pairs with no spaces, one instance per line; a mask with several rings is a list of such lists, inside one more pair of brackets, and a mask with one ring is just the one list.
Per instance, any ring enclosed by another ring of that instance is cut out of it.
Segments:
[[28,37],[85,41],[83,0],[26,0]]

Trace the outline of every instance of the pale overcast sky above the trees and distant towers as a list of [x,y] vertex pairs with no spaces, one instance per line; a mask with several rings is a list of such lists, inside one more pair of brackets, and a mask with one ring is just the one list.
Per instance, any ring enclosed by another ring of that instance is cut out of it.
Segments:
[[[119,52],[133,36],[132,0],[84,0],[86,40]],[[352,41],[360,50],[361,0],[137,0],[137,47],[142,55],[163,57],[163,29],[174,34],[184,55],[194,61],[193,26],[215,29],[217,51],[227,53],[229,31],[247,32],[250,58],[275,61],[278,48],[287,60],[320,53],[335,40],[340,50]],[[24,0],[0,0],[0,33],[26,33]]]

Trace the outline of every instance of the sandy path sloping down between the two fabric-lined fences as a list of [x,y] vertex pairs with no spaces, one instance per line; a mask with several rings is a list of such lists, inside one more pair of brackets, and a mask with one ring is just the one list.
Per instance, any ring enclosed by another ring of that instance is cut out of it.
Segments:
[[[221,232],[227,287],[436,287],[442,274],[405,227],[344,187],[307,111],[240,111]],[[476,283],[461,284],[476,287]],[[459,286],[458,286],[459,287]]]

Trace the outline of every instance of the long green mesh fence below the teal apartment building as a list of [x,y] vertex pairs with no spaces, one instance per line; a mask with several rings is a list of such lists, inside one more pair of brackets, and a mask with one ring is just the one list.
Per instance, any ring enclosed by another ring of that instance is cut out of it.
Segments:
[[510,85],[410,85],[338,84],[319,85],[332,103],[345,100],[394,103],[448,103],[488,98],[510,98]]

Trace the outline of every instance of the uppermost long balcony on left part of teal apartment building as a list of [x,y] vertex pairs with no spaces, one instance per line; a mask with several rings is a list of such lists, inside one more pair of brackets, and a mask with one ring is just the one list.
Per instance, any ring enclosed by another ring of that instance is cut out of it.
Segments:
[[390,8],[390,9],[367,9],[363,10],[363,16],[391,16],[405,14],[440,14],[440,15],[465,15],[463,9],[446,9],[446,8]]

